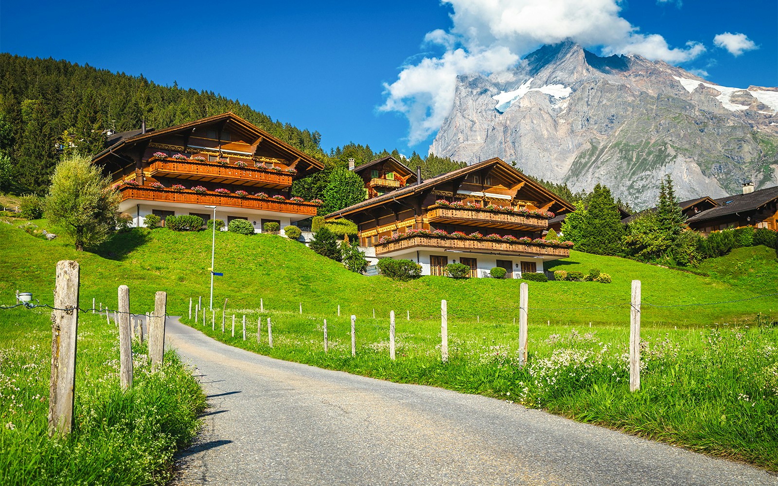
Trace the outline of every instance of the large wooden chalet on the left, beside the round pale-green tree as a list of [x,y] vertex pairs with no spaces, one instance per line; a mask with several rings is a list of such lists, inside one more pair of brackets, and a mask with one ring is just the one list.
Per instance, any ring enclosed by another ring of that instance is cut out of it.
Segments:
[[93,163],[121,193],[120,212],[144,226],[145,215],[198,215],[229,224],[247,219],[282,228],[316,215],[317,201],[289,198],[292,181],[321,170],[311,156],[233,113],[163,130],[117,133]]

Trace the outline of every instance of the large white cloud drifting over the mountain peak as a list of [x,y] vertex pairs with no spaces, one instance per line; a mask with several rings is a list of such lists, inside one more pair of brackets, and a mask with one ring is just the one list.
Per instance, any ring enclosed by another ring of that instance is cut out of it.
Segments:
[[[670,1],[670,0],[668,0]],[[640,54],[670,63],[689,61],[705,51],[690,41],[671,47],[659,34],[639,33],[620,16],[621,0],[443,0],[454,9],[450,30],[424,38],[445,53],[403,67],[397,81],[384,84],[382,111],[408,117],[409,143],[440,128],[454,103],[457,75],[498,72],[541,44],[573,40],[603,46],[605,54]]]

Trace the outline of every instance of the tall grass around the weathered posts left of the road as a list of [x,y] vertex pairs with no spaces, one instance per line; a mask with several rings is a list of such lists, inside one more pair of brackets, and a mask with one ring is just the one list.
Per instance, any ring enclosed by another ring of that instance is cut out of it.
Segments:
[[133,344],[134,386],[118,379],[118,333],[79,316],[75,428],[47,434],[51,320],[38,309],[0,311],[0,484],[165,484],[173,453],[198,429],[205,397],[173,352],[152,372]]

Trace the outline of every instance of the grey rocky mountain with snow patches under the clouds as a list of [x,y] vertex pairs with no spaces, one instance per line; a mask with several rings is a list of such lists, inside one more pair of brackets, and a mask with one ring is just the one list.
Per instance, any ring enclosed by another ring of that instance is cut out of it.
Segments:
[[778,89],[719,86],[640,56],[600,58],[577,44],[541,47],[518,68],[457,79],[429,152],[500,157],[573,191],[608,185],[653,206],[670,173],[683,199],[778,183]]

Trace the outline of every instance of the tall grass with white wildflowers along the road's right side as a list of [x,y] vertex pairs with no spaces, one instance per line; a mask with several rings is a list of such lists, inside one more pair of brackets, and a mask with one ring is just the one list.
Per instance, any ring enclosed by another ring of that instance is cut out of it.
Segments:
[[[236,313],[236,337],[231,314]],[[385,314],[385,312],[380,312]],[[247,340],[242,316],[247,316]],[[267,317],[274,348],[268,347]],[[329,352],[323,349],[328,321]],[[256,331],[261,319],[261,344]],[[643,330],[641,390],[629,393],[629,323],[530,327],[528,364],[518,365],[518,326],[449,319],[449,361],[440,361],[440,320],[398,315],[396,362],[389,358],[387,316],[356,322],[351,356],[349,316],[228,309],[216,330],[184,320],[227,344],[328,369],[401,383],[442,386],[538,407],[579,421],[745,460],[778,471],[778,328],[734,326]]]

